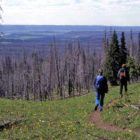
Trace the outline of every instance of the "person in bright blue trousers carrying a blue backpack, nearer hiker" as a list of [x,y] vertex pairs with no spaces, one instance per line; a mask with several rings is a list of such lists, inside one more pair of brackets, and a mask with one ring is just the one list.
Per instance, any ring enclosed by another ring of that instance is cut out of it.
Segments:
[[102,69],[98,70],[98,75],[95,78],[94,86],[96,89],[96,101],[95,101],[96,105],[94,110],[96,111],[99,107],[100,111],[102,111],[104,105],[105,93],[108,92],[107,79],[105,76],[103,76]]

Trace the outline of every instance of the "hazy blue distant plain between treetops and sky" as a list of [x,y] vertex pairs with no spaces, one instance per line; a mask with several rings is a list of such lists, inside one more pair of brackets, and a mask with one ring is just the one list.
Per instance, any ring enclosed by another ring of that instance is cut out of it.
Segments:
[[63,48],[68,42],[80,42],[83,47],[101,48],[105,31],[109,38],[111,32],[116,30],[118,35],[122,31],[126,34],[128,42],[130,31],[137,42],[140,26],[55,26],[55,25],[3,25],[0,31],[3,32],[1,38],[0,52],[2,54],[14,54],[16,52],[44,50],[46,46],[55,40],[57,46]]

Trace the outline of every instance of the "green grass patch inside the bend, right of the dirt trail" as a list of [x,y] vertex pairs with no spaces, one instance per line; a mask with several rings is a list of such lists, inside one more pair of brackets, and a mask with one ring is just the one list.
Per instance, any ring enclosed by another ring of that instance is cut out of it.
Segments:
[[[112,95],[107,97],[106,102],[114,97],[119,98],[119,94],[116,94],[119,87],[114,88],[113,91],[111,91]],[[102,113],[102,116],[105,121],[119,127],[140,130],[140,110],[131,107],[135,104],[140,105],[140,84],[130,85],[128,93]]]

